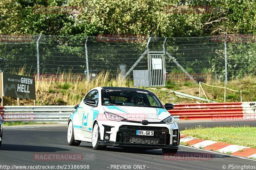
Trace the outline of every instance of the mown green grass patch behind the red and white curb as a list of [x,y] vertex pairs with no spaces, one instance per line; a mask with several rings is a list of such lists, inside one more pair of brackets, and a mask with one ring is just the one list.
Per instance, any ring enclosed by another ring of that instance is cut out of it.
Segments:
[[217,142],[225,142],[256,148],[256,127],[229,126],[203,128],[201,126],[197,126],[195,128],[182,130],[180,133],[205,140],[213,140]]

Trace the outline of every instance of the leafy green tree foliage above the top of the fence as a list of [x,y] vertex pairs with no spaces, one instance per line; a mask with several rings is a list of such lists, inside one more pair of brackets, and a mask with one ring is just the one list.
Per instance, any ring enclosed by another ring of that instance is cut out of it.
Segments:
[[[177,13],[164,6],[211,6]],[[82,7],[79,13],[36,13],[36,7]],[[256,33],[255,1],[1,0],[0,34],[145,34],[158,37]]]

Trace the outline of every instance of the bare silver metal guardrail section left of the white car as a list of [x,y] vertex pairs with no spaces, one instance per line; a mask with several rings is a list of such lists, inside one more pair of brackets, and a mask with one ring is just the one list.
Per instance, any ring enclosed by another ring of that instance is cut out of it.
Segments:
[[4,106],[0,107],[4,121],[66,123],[74,106]]

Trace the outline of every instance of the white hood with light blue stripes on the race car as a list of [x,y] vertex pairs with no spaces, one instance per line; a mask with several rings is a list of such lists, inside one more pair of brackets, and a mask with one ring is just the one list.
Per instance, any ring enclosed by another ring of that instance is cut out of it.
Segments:
[[103,106],[107,112],[122,116],[131,121],[160,122],[171,114],[164,108],[136,107],[136,106]]

